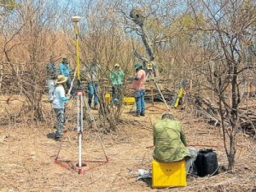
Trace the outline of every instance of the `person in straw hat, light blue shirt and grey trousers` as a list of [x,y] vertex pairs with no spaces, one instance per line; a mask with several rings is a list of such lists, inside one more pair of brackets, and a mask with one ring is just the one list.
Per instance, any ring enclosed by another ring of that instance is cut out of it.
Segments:
[[55,139],[62,137],[63,125],[65,123],[65,102],[68,102],[69,96],[65,96],[64,84],[67,83],[67,77],[58,75],[55,80],[55,92],[54,100],[52,102],[52,108],[54,108],[56,114],[56,132]]

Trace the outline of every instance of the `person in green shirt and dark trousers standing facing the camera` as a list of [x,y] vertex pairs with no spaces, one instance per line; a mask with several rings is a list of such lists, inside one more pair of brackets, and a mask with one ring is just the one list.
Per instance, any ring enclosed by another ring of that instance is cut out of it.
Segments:
[[118,63],[114,64],[113,70],[109,74],[112,83],[112,105],[122,103],[122,87],[125,73],[120,69]]

